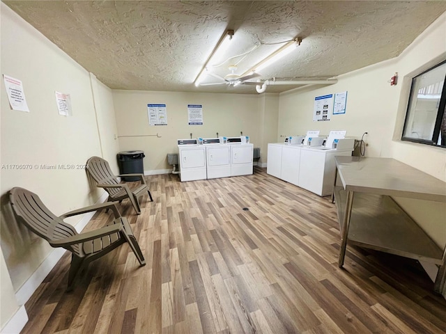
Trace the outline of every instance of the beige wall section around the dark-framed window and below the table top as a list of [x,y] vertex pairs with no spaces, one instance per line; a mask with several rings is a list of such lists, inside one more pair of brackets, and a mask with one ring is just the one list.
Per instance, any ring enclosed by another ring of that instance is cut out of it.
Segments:
[[[392,157],[414,166],[425,173],[446,182],[446,150],[428,145],[400,141],[404,117],[410,94],[412,77],[424,72],[446,59],[446,13],[431,24],[398,58],[398,72],[401,76],[401,94],[394,118],[393,140],[390,141]],[[424,230],[440,246],[446,243],[446,205],[438,202],[423,202],[396,198],[399,205],[420,222]]]

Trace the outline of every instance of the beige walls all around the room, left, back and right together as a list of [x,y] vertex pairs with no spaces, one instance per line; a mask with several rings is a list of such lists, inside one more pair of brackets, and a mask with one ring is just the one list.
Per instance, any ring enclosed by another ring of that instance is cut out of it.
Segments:
[[[261,148],[264,163],[266,145],[282,141],[281,135],[346,129],[357,138],[369,132],[367,156],[395,157],[445,180],[444,149],[399,141],[408,93],[404,77],[445,57],[445,31],[443,15],[399,58],[346,74],[334,86],[311,91],[279,96],[122,91],[101,84],[1,3],[1,74],[23,81],[31,109],[31,113],[10,110],[1,84],[1,164],[38,166],[1,170],[1,326],[19,306],[14,298],[17,289],[52,252],[14,221],[7,191],[13,186],[36,191],[56,214],[92,204],[100,195],[90,188],[84,170],[44,170],[42,164],[84,164],[91,155],[102,155],[117,173],[117,152],[144,150],[144,169],[163,171],[170,169],[166,154],[177,152],[176,139],[189,138],[191,132],[193,137],[213,137],[216,132],[238,136],[240,131],[251,137],[254,147]],[[399,72],[400,83],[391,87],[387,80],[394,72]],[[71,94],[72,117],[57,114],[54,90]],[[346,115],[333,116],[330,122],[312,122],[314,97],[344,90],[348,90]],[[167,126],[148,126],[148,103],[167,104]],[[187,125],[187,104],[203,104],[204,125]],[[433,239],[444,244],[446,229],[437,223],[445,216],[444,205],[419,204],[403,202]],[[426,208],[428,218],[423,213]],[[72,218],[73,225],[77,219]]]

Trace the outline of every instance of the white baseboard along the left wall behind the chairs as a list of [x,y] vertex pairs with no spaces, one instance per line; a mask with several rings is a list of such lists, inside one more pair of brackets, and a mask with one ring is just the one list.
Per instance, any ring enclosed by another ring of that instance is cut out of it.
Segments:
[[[107,200],[108,194],[104,191],[96,203],[102,203]],[[81,232],[86,224],[89,223],[95,212],[88,212],[82,216],[82,219],[75,225],[77,232]],[[36,291],[40,283],[47,277],[49,271],[51,271],[56,263],[61,260],[62,255],[66,252],[63,248],[54,248],[47,258],[40,264],[38,269],[33,272],[30,278],[17,290],[15,298],[19,305],[23,305],[28,301],[29,297]]]

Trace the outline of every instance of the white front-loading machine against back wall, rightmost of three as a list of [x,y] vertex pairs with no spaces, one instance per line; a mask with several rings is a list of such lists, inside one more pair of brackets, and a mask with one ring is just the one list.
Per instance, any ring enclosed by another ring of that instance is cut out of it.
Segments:
[[252,175],[254,145],[249,137],[228,137],[227,143],[231,146],[231,176]]

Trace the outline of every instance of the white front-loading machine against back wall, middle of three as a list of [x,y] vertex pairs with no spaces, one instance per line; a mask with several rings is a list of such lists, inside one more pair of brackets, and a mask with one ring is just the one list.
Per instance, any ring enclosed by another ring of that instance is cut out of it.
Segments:
[[204,138],[208,179],[231,176],[231,146],[222,144],[222,138]]

